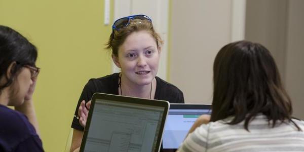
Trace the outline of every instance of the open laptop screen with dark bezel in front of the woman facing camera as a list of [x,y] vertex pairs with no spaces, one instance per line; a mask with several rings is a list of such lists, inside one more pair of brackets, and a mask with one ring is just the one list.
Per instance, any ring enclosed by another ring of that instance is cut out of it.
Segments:
[[95,93],[80,151],[159,151],[169,102]]

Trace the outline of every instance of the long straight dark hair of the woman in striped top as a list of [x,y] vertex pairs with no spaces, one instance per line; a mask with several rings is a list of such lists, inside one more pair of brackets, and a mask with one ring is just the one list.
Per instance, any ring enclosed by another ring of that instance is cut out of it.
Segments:
[[213,65],[211,121],[233,116],[228,124],[245,120],[244,128],[258,113],[274,127],[277,121],[292,122],[292,106],[271,53],[262,45],[239,41],[225,45]]

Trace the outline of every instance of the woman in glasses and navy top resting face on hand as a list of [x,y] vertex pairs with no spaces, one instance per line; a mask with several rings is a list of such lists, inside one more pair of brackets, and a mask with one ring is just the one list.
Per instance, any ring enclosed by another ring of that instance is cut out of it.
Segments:
[[0,25],[0,151],[44,151],[32,101],[36,58],[34,45]]

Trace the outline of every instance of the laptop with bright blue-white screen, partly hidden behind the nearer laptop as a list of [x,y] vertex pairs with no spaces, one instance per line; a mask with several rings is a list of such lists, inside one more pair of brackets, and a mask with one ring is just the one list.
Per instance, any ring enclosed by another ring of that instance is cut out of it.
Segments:
[[164,135],[163,151],[176,151],[198,117],[211,113],[210,104],[170,104]]

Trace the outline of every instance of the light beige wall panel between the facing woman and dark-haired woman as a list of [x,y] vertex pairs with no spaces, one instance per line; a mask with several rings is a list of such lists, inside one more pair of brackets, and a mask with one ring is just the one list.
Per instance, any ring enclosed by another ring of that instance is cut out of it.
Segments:
[[169,81],[186,103],[211,103],[212,65],[231,41],[231,1],[171,2]]

